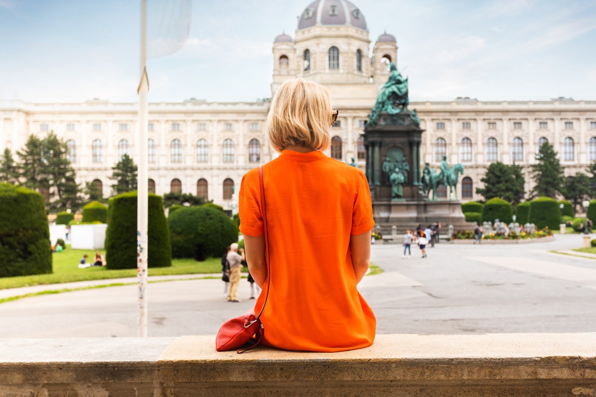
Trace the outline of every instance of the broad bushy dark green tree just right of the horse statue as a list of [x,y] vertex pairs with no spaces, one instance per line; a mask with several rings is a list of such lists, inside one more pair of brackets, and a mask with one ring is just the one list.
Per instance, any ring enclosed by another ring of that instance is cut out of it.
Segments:
[[485,201],[498,197],[516,205],[523,200],[526,180],[520,165],[493,162],[480,182],[484,187],[477,187],[476,193],[484,196]]

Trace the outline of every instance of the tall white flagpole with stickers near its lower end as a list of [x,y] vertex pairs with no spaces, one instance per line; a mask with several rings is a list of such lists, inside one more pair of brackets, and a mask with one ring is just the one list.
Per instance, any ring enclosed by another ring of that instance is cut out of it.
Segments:
[[141,64],[138,87],[139,94],[139,124],[138,124],[138,195],[136,211],[136,245],[137,257],[137,285],[138,285],[138,328],[137,336],[147,336],[147,223],[148,223],[148,140],[147,121],[149,110],[147,105],[147,93],[149,92],[149,81],[145,61],[147,60],[147,0],[141,0]]

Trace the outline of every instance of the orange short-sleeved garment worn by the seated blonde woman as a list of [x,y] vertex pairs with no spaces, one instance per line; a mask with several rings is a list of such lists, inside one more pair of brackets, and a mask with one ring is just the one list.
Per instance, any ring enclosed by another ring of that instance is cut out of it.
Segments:
[[[364,173],[319,151],[284,150],[263,165],[263,182],[271,266],[263,342],[316,352],[370,346],[377,321],[356,290],[349,245],[350,235],[374,226]],[[238,198],[240,232],[262,235],[257,168],[244,175]],[[256,313],[263,301],[265,290]]]

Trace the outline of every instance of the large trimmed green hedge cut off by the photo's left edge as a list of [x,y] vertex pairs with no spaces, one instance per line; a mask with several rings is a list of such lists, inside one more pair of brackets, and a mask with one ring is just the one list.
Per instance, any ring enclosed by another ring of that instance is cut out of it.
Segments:
[[0,183],[0,277],[52,273],[48,217],[38,192]]

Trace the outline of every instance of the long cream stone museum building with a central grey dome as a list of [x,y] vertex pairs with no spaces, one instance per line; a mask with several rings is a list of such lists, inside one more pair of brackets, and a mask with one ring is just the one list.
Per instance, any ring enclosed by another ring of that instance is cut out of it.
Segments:
[[[271,91],[290,77],[310,74],[331,93],[339,118],[331,127],[327,155],[364,170],[365,121],[389,64],[399,68],[394,36],[384,33],[372,45],[364,14],[346,0],[313,1],[299,17],[294,37],[281,34],[273,43]],[[149,188],[163,195],[190,192],[226,211],[234,210],[233,186],[250,169],[277,153],[268,143],[265,120],[268,100],[151,103],[148,124]],[[530,165],[542,142],[559,153],[567,176],[596,161],[596,101],[557,98],[551,101],[410,102],[423,133],[421,167],[461,162],[465,173],[458,185],[462,201],[480,199],[475,188],[491,162],[520,164],[526,191],[532,189]],[[111,167],[124,154],[136,157],[136,103],[92,99],[83,103],[0,101],[0,150],[21,149],[30,134],[50,131],[64,139],[76,169],[77,182],[94,181],[111,195]],[[439,192],[445,196],[445,191]]]

